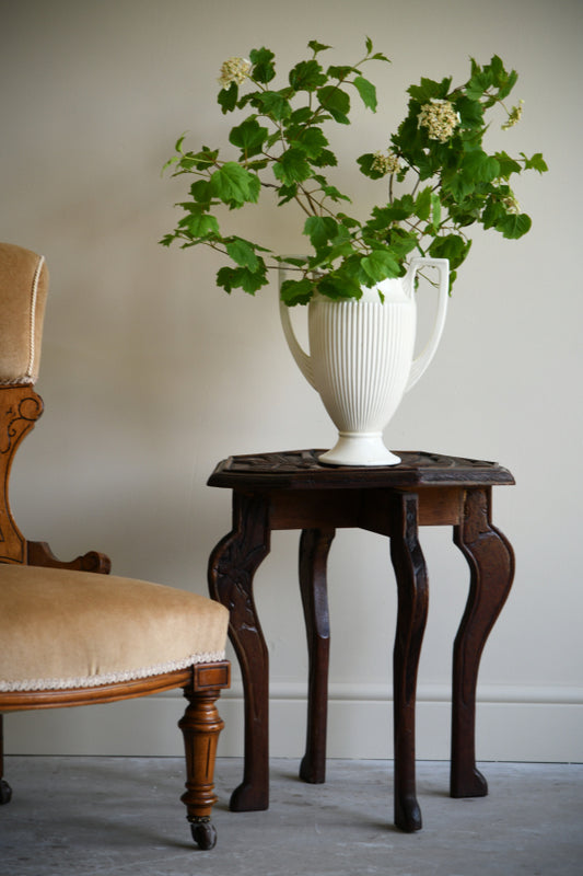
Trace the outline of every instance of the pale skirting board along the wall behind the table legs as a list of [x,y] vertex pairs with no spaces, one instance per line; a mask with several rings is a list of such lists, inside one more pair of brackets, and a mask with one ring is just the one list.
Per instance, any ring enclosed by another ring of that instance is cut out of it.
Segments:
[[[418,691],[417,756],[450,757],[450,692],[428,685]],[[220,757],[243,754],[243,696],[235,685],[219,703],[225,729]],[[183,712],[178,692],[80,708],[22,712],[5,716],[8,754],[182,754],[176,722]],[[305,742],[305,688],[271,687],[270,753],[299,758]],[[328,757],[393,757],[392,702],[369,685],[330,685]],[[480,689],[477,706],[478,760],[583,762],[583,689]]]

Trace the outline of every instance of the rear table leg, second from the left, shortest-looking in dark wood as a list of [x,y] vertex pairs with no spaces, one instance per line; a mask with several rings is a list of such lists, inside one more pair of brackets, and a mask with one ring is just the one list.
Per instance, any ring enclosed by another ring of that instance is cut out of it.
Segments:
[[310,658],[306,748],[300,777],[313,784],[326,780],[330,648],[326,562],[335,533],[334,529],[304,529],[300,540],[300,589]]

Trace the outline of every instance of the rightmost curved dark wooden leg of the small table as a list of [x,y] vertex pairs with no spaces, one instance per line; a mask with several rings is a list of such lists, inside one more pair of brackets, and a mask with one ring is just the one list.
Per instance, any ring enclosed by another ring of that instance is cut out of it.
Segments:
[[466,610],[454,644],[452,692],[452,797],[483,797],[476,769],[476,685],[481,653],[514,577],[514,553],[491,523],[491,488],[468,489],[454,542],[470,568]]

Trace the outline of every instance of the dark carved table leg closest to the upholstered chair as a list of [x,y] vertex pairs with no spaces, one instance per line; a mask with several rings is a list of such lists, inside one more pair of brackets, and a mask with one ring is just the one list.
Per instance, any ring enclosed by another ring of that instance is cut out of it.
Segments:
[[210,556],[209,590],[231,612],[229,637],[243,678],[245,766],[230,803],[240,812],[269,806],[269,655],[253,598],[253,578],[269,546],[267,502],[233,493],[233,530]]

